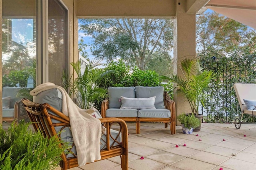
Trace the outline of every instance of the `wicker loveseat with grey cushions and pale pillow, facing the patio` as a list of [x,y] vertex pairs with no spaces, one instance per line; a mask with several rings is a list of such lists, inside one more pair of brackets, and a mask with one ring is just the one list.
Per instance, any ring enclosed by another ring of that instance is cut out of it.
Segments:
[[140,122],[162,122],[166,128],[169,124],[171,134],[175,134],[175,103],[164,87],[109,87],[108,95],[109,99],[102,102],[103,118],[117,117],[135,122],[136,134],[140,134]]

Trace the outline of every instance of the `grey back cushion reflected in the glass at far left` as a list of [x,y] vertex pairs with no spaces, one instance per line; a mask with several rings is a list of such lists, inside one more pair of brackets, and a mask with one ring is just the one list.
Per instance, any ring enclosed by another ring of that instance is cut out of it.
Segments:
[[21,87],[3,87],[2,89],[2,97],[11,97],[10,100],[10,109],[14,108],[16,101],[20,101],[23,97],[17,97],[19,89]]

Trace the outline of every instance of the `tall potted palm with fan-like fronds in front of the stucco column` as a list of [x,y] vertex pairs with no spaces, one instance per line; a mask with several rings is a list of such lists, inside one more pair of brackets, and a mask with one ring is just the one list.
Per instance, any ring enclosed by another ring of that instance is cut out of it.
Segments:
[[[205,90],[213,79],[213,71],[206,70],[200,66],[198,58],[184,58],[180,62],[180,69],[183,76],[172,75],[172,77],[161,76],[174,83],[177,93],[182,93],[190,104],[191,113],[202,122],[203,115],[198,113],[199,105],[204,106],[204,98],[207,96]],[[201,124],[194,131],[200,131]]]

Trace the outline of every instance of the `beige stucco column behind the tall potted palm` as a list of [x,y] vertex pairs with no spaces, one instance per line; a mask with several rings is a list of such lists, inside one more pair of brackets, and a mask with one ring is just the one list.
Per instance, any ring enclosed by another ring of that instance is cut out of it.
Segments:
[[[176,16],[174,19],[174,74],[182,75],[180,61],[184,57],[196,54],[196,14],[186,13],[186,1],[176,2]],[[174,85],[175,86],[175,85]],[[184,96],[174,91],[176,116],[182,112],[191,113],[190,106]],[[180,123],[176,120],[176,125]]]

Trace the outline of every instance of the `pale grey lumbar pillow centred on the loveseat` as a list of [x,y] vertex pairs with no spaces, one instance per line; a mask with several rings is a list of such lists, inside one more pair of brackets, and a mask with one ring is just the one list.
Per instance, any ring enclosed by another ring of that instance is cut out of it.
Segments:
[[156,109],[154,97],[149,98],[128,98],[121,96],[120,109]]

